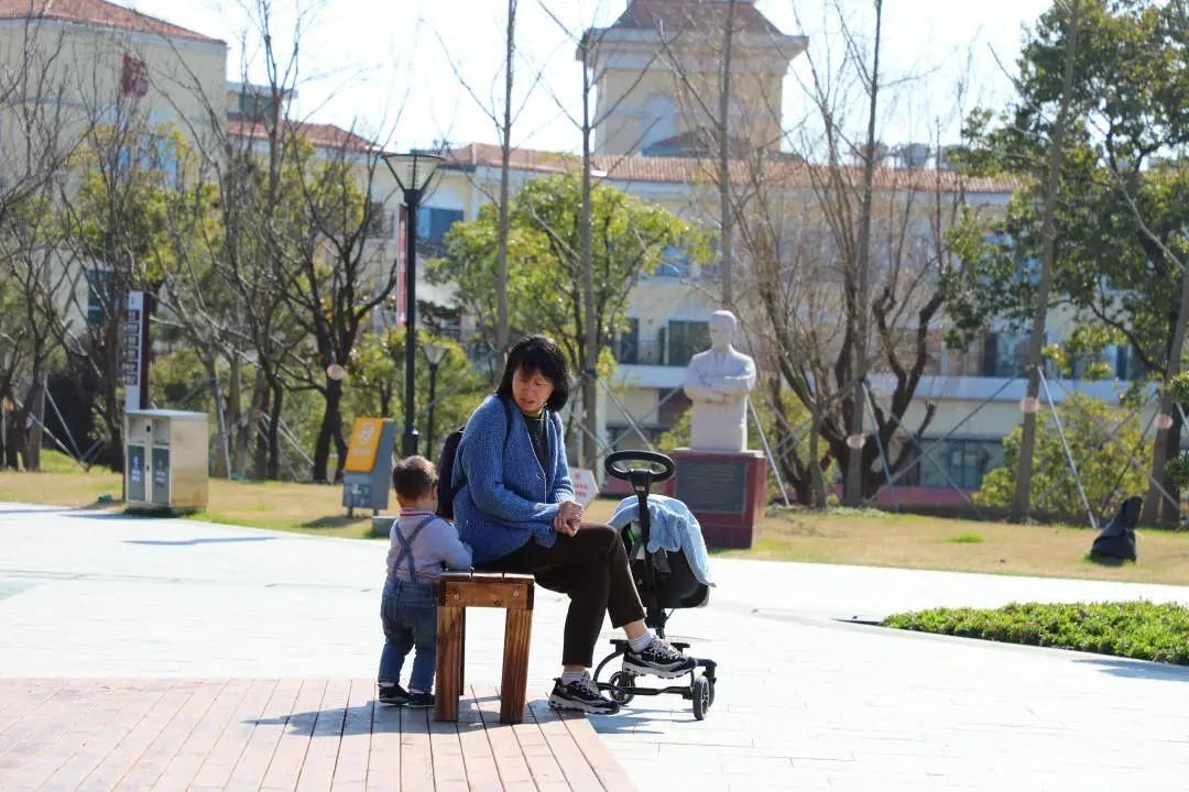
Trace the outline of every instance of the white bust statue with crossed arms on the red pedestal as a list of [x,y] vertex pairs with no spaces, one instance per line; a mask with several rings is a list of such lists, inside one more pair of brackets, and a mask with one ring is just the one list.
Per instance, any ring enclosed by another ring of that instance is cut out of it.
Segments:
[[735,315],[710,315],[710,349],[685,369],[685,394],[693,401],[690,448],[747,450],[747,394],[755,387],[755,361],[731,346]]

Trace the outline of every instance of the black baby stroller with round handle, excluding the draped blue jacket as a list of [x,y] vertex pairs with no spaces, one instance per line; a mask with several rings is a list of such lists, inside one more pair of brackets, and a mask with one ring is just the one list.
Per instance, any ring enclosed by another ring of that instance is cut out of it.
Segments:
[[[677,471],[673,460],[663,454],[652,451],[617,451],[606,457],[604,469],[609,476],[627,481],[638,500],[638,517],[622,532],[628,558],[631,559],[631,574],[644,604],[644,623],[665,638],[665,625],[677,608],[698,608],[710,600],[710,588],[694,577],[690,563],[680,550],[667,552],[658,550],[648,552],[650,515],[648,512],[648,493],[653,483],[668,481]],[[635,530],[633,530],[635,528]],[[669,612],[666,613],[666,609]],[[672,641],[673,646],[685,652],[688,644]],[[685,685],[667,688],[641,688],[636,684],[637,674],[621,669],[615,671],[608,682],[599,682],[603,669],[628,651],[625,639],[612,639],[615,651],[603,658],[594,669],[594,683],[599,690],[605,690],[611,701],[628,704],[636,696],[659,696],[675,693],[693,702],[693,716],[702,721],[715,703],[715,661],[697,659],[697,665],[690,671],[690,682]],[[700,674],[697,673],[702,669]]]

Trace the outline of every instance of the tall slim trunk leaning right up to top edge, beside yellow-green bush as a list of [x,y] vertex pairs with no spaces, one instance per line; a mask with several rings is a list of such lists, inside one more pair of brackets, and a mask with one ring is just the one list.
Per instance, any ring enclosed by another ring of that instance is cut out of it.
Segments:
[[[1069,17],[1069,37],[1065,39],[1065,63],[1062,74],[1061,104],[1053,122],[1052,150],[1049,154],[1049,176],[1045,184],[1044,214],[1040,221],[1040,285],[1037,290],[1036,315],[1032,317],[1032,335],[1028,338],[1028,387],[1027,398],[1036,404],[1040,392],[1040,353],[1044,349],[1044,329],[1049,312],[1049,287],[1052,280],[1053,247],[1056,229],[1053,216],[1057,208],[1057,190],[1061,179],[1061,160],[1065,146],[1065,120],[1069,115],[1070,93],[1074,84],[1074,56],[1077,52],[1078,0],[1072,0]],[[1032,452],[1036,448],[1037,412],[1025,411],[1024,430],[1020,438],[1019,465],[1015,469],[1015,492],[1008,519],[1023,522],[1028,519],[1032,499]]]

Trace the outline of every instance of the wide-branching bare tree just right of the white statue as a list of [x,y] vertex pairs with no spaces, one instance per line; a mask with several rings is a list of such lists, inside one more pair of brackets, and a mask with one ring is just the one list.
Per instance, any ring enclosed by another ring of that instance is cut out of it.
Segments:
[[907,437],[927,429],[935,407],[914,410],[914,395],[936,372],[960,264],[949,232],[975,210],[958,173],[881,164],[882,5],[873,11],[864,45],[836,4],[842,57],[829,46],[805,56],[811,113],[789,125],[795,153],[753,150],[734,161],[744,329],[776,370],[760,398],[786,438],[801,438],[775,455],[803,502],[824,501],[832,463],[857,503],[917,460]]

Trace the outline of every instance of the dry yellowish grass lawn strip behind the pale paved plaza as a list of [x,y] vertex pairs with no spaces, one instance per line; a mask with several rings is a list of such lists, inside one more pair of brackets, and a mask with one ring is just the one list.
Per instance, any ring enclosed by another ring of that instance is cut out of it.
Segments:
[[[82,473],[61,455],[46,455],[45,473],[0,473],[0,501],[121,508],[96,503],[120,498],[120,476]],[[364,538],[371,515],[347,519],[341,487],[285,482],[210,481],[206,512],[191,519],[320,536]],[[591,520],[605,521],[617,500],[597,500]],[[396,509],[391,500],[390,511]],[[874,511],[785,512],[763,519],[751,550],[728,558],[805,560],[940,569],[1001,575],[1080,577],[1189,585],[1189,532],[1139,532],[1139,563],[1106,566],[1086,559],[1094,533],[1064,526],[975,522]]]

